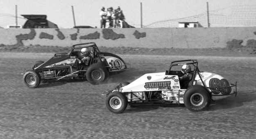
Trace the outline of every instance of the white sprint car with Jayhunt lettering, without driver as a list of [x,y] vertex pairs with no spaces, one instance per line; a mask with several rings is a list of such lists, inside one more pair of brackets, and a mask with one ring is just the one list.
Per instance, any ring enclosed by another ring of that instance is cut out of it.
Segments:
[[[187,87],[179,80],[184,75],[180,71],[182,65],[192,67],[193,77]],[[211,100],[236,95],[236,83],[231,84],[215,73],[200,72],[197,65],[197,60],[173,61],[165,72],[144,74],[131,83],[118,83],[113,90],[102,93],[106,95],[106,107],[113,113],[121,113],[128,103],[177,103],[197,112],[206,110]]]

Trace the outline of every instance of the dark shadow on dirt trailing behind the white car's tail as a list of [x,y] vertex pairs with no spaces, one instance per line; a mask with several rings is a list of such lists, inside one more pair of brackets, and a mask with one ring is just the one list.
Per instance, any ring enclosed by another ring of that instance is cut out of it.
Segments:
[[247,90],[238,92],[237,96],[230,96],[218,101],[211,101],[209,111],[238,108],[244,105],[244,103],[252,102],[256,100],[256,90]]

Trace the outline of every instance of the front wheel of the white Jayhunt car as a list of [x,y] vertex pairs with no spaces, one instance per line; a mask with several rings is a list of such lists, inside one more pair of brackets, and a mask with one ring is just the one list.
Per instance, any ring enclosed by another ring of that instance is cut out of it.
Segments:
[[113,113],[123,112],[127,104],[127,98],[121,92],[112,92],[106,97],[106,107]]

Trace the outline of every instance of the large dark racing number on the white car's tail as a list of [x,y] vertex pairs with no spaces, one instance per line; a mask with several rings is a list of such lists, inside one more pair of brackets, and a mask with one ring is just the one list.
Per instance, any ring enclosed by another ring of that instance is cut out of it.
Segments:
[[229,87],[229,82],[226,79],[212,78],[209,81],[209,86],[213,94],[223,94],[227,95],[231,93],[231,87]]

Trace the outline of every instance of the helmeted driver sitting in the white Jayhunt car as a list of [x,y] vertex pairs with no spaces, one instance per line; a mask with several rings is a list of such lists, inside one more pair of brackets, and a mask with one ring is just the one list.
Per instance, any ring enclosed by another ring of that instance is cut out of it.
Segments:
[[190,65],[183,65],[181,67],[181,72],[184,74],[183,76],[179,77],[179,81],[181,83],[181,89],[188,88],[188,84],[191,81],[193,74],[191,72]]

